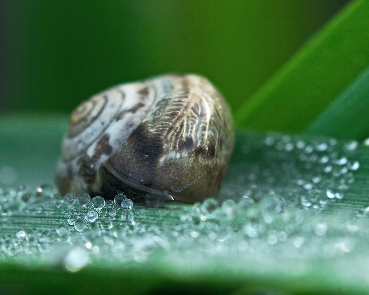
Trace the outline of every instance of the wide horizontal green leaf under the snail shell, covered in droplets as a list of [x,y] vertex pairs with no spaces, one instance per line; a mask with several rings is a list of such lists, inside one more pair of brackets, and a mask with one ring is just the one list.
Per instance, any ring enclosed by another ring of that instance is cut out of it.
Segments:
[[[1,119],[0,181],[4,163],[18,173],[14,186],[52,179],[66,123],[63,116]],[[207,213],[200,204],[135,204],[127,212],[106,204],[107,213],[96,210],[100,229],[89,224],[82,233],[68,219],[83,218],[91,205],[47,197],[24,202],[24,188],[14,198],[3,183],[0,290],[368,294],[368,155],[368,147],[352,140],[238,132],[217,195],[221,208]],[[256,203],[224,202],[246,196]],[[61,223],[69,235],[57,234]],[[73,269],[73,262],[81,264]]]

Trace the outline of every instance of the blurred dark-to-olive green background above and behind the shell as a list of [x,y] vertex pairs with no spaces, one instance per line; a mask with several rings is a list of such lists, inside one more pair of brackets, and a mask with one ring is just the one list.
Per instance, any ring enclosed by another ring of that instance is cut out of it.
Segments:
[[346,0],[0,1],[0,111],[70,111],[111,85],[208,77],[235,112]]

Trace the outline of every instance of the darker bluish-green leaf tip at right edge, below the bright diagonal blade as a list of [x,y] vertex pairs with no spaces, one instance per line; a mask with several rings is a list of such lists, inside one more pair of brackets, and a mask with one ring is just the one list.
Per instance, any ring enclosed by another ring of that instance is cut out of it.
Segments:
[[305,133],[341,138],[369,136],[369,67],[305,129]]

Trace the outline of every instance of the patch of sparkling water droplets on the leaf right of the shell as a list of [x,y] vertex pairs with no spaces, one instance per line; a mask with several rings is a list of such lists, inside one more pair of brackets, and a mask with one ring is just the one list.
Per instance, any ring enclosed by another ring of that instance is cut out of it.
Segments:
[[[325,209],[345,197],[354,183],[357,141],[306,140],[299,136],[273,134],[263,141],[242,145],[249,162],[232,164],[221,194],[239,200],[260,199],[276,192],[289,204]],[[262,163],[253,158],[263,158]]]

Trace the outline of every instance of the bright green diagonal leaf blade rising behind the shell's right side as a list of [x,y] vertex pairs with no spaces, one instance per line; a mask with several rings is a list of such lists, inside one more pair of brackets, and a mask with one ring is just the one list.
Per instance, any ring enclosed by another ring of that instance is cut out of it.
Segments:
[[369,1],[358,0],[239,108],[236,125],[301,132],[368,64]]

